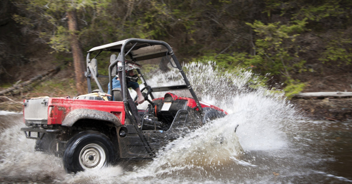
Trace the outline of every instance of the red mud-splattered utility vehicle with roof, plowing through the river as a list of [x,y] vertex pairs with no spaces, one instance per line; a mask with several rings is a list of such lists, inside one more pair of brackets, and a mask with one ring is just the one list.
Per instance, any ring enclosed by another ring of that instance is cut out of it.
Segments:
[[[98,67],[109,56],[108,75],[99,75]],[[149,103],[144,109],[137,108],[137,97],[132,99],[127,89],[126,59],[142,65],[137,72]],[[183,83],[160,86],[153,81],[153,70],[165,71],[165,66],[174,68]],[[227,114],[198,100],[174,51],[163,41],[131,38],[94,47],[88,51],[85,76],[87,95],[39,97],[23,105],[26,127],[21,131],[37,139],[37,151],[62,157],[68,173],[99,169],[120,159],[152,158],[168,142]],[[121,79],[121,88],[107,89],[115,76]],[[92,91],[92,86],[98,89]]]

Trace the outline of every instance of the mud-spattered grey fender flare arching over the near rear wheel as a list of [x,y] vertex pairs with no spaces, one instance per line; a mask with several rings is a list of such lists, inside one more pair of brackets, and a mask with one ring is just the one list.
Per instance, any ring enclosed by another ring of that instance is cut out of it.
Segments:
[[93,109],[75,109],[72,110],[62,121],[62,126],[71,127],[75,122],[81,119],[92,119],[100,121],[108,121],[115,126],[121,126],[121,121],[113,114]]

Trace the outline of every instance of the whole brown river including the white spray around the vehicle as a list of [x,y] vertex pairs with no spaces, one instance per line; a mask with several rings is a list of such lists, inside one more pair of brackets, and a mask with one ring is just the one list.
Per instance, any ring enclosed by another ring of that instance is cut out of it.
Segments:
[[229,115],[153,160],[69,175],[61,158],[34,152],[34,140],[20,132],[22,114],[0,111],[0,183],[352,183],[352,122],[311,120],[280,93],[249,88],[251,72],[209,66],[188,65],[201,71],[188,74],[190,82],[202,101]]

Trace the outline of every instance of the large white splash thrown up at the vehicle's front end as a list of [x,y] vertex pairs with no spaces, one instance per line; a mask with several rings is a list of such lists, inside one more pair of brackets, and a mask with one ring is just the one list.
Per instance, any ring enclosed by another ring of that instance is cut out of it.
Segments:
[[[190,63],[185,68],[197,96],[224,108],[229,115],[208,122],[166,146],[145,169],[150,174],[170,174],[188,169],[199,170],[203,175],[212,177],[212,171],[218,171],[229,160],[252,165],[240,160],[243,150],[271,150],[287,146],[282,124],[296,121],[297,113],[282,100],[281,94],[270,94],[261,87],[256,90],[249,88],[250,81],[252,84],[260,83],[250,71],[238,69],[235,74],[219,72],[214,62]],[[170,76],[170,73],[173,74],[170,71],[164,75]],[[170,85],[169,81],[164,82]],[[176,84],[179,83],[172,85]]]

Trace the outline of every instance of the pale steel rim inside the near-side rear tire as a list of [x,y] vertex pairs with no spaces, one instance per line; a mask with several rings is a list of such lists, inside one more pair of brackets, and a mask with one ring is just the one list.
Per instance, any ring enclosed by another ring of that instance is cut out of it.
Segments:
[[88,144],[80,152],[80,165],[84,170],[99,169],[105,165],[106,154],[98,144]]

